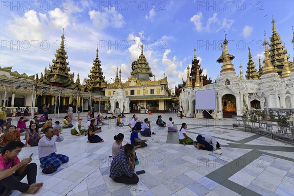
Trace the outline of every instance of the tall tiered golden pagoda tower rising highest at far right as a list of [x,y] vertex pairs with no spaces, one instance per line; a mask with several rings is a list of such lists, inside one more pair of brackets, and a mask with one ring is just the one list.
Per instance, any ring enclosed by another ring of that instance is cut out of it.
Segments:
[[[270,62],[275,68],[275,71],[281,75],[283,71],[283,61],[284,61],[284,48],[281,44],[283,41],[281,40],[280,35],[277,33],[277,28],[275,26],[275,20],[272,17],[272,35],[270,37]],[[287,54],[286,54],[287,55]],[[287,56],[287,59],[290,56]]]

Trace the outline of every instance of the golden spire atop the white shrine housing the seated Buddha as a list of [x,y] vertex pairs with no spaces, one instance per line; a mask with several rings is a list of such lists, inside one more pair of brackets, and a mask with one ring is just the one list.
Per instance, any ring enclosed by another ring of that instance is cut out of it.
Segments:
[[229,54],[227,44],[228,44],[228,41],[226,39],[226,34],[225,34],[224,41],[223,41],[223,51],[221,53],[220,58],[218,58],[217,60],[218,63],[222,63],[221,73],[235,71],[234,65],[232,64],[232,60],[235,58],[235,56]]

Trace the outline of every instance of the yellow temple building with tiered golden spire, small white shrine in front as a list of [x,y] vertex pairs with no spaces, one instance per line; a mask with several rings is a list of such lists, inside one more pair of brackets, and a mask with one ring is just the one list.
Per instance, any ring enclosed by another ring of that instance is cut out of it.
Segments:
[[102,82],[105,96],[110,100],[109,109],[113,111],[119,105],[125,113],[138,112],[138,108],[141,113],[148,109],[152,112],[168,110],[176,99],[171,95],[165,74],[162,79],[150,79],[153,74],[144,55],[143,45],[139,58],[132,63],[131,68],[131,76],[126,82],[122,83],[121,70],[119,77],[117,72],[113,83]]

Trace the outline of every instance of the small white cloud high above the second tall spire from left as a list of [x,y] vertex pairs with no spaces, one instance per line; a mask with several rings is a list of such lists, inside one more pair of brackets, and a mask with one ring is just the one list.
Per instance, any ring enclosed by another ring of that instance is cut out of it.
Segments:
[[103,11],[89,11],[90,19],[97,29],[104,29],[109,26],[121,28],[125,24],[123,15],[119,14],[115,7],[104,8]]

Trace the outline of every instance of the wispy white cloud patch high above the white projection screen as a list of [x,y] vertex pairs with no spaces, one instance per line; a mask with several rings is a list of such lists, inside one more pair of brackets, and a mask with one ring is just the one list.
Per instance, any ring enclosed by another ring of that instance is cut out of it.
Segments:
[[190,21],[194,23],[195,29],[198,32],[219,32],[221,29],[230,29],[235,22],[233,19],[219,19],[218,13],[214,13],[212,17],[208,18],[206,25],[203,26],[203,14],[197,13]]

